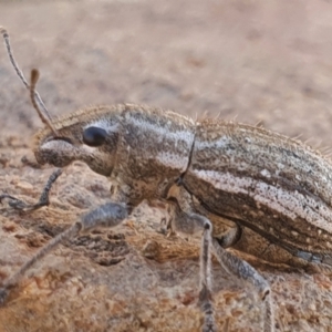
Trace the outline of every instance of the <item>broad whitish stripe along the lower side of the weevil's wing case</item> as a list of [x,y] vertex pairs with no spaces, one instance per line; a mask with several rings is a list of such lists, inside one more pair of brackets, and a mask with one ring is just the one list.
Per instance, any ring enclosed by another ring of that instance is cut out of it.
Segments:
[[[230,173],[216,170],[194,170],[198,179],[211,184],[217,189],[230,194],[245,194],[253,198],[257,205],[271,207],[276,211],[291,219],[300,217],[309,224],[332,231],[332,211],[326,206],[320,206],[311,197],[300,194],[298,190],[290,191],[281,187],[269,185],[262,180],[250,177],[234,176]],[[303,208],[305,206],[305,209]]]

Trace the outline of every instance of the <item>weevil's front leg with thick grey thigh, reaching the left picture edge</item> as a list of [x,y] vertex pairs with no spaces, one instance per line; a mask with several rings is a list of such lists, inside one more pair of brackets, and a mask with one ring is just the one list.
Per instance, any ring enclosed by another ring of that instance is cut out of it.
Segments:
[[132,212],[132,208],[125,204],[108,203],[87,212],[81,221],[53,238],[46,246],[41,248],[32,256],[13,276],[4,281],[0,288],[0,305],[4,303],[10,289],[14,288],[24,273],[52,249],[61,243],[62,240],[76,237],[81,231],[90,231],[96,227],[115,227],[120,225]]

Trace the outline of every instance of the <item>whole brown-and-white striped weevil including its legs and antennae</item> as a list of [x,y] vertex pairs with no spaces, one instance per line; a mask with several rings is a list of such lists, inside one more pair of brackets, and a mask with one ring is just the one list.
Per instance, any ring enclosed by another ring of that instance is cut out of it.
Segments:
[[[196,122],[147,106],[95,106],[52,120],[35,91],[38,72],[32,71],[28,84],[13,60],[7,31],[1,28],[1,32],[10,60],[45,124],[34,137],[37,163],[62,168],[82,160],[107,177],[113,190],[108,204],[84,215],[6,280],[0,302],[3,304],[24,272],[64,238],[95,227],[115,227],[143,200],[162,200],[168,205],[173,229],[203,234],[201,331],[217,331],[211,252],[226,270],[258,288],[266,304],[263,331],[274,331],[268,282],[225,248],[232,246],[278,262],[332,264],[329,160],[302,143],[259,127]],[[8,198],[19,210],[39,208],[48,204],[49,190],[60,174],[56,170],[50,177],[35,205],[9,195],[0,198]]]

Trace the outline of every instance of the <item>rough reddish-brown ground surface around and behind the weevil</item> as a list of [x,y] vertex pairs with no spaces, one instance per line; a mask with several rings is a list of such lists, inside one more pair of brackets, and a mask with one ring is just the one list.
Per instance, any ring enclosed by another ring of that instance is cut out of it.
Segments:
[[[52,114],[135,102],[191,116],[220,113],[332,146],[332,4],[312,0],[2,1],[25,73]],[[37,199],[51,173],[23,167],[40,126],[0,49],[0,191]],[[108,184],[82,164],[65,169],[48,208],[1,212],[0,282],[38,248],[107,200]],[[146,206],[117,231],[65,243],[35,267],[0,309],[0,331],[199,331],[198,247],[157,234]],[[117,236],[117,235],[123,236]],[[157,241],[155,259],[144,257]],[[270,281],[277,331],[332,331],[328,273],[249,260]],[[219,331],[260,331],[255,289],[214,266]]]

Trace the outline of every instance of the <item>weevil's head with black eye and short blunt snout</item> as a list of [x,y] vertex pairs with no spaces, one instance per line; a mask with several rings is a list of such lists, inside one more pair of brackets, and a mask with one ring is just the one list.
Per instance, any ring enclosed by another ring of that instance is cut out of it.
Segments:
[[108,176],[116,160],[122,105],[79,111],[52,121],[34,137],[33,152],[41,165],[64,167],[84,162],[92,170]]

